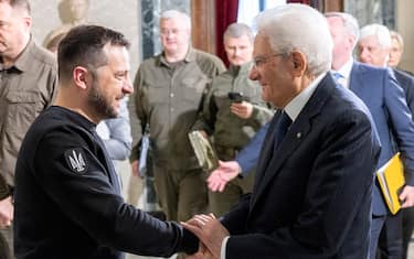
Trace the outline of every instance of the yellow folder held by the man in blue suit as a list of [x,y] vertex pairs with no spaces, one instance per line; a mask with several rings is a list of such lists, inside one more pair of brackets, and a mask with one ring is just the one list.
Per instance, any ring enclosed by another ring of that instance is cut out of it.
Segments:
[[376,179],[391,214],[396,214],[401,208],[399,194],[405,184],[404,168],[400,152],[376,171]]

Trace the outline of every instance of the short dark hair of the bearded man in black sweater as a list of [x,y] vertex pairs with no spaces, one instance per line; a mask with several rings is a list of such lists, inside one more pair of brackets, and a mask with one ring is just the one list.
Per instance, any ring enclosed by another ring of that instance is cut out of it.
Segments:
[[129,47],[124,34],[98,25],[73,28],[57,47],[57,67],[61,80],[72,78],[76,66],[84,66],[94,74],[96,68],[107,64],[103,52],[106,44]]

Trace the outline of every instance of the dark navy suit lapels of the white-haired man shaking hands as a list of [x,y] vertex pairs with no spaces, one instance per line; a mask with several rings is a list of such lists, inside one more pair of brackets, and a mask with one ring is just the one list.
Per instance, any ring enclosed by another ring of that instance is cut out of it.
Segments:
[[305,105],[299,116],[290,126],[277,153],[275,154],[272,152],[272,140],[275,138],[275,129],[272,127],[274,123],[270,125],[272,130],[266,134],[265,144],[261,153],[262,159],[257,166],[251,208],[257,203],[257,199],[263,195],[272,180],[280,173],[284,173],[283,165],[286,160],[290,158],[296,150],[300,149],[302,140],[305,140],[311,132],[314,118],[320,114],[325,101],[330,96],[330,91],[333,88],[332,86],[335,87],[336,83],[328,73],[328,75],[319,83],[317,89],[310,97],[309,101]]

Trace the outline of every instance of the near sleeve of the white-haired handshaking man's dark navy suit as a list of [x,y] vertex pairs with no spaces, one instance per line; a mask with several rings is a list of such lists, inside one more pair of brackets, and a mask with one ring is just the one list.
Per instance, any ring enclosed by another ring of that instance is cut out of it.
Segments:
[[[320,131],[315,132],[320,136],[311,144],[315,154],[302,154],[315,159],[311,159],[310,168],[301,169],[309,170],[306,174],[309,179],[305,180],[301,205],[294,208],[297,216],[290,224],[268,224],[261,231],[231,236],[226,259],[236,259],[241,255],[244,258],[332,258],[351,231],[351,226],[355,222],[367,222],[367,215],[371,215],[373,172],[379,157],[373,123],[361,111],[343,111],[330,117],[335,118],[329,122],[315,121],[316,125],[323,125]],[[290,159],[284,168],[295,166],[294,163],[298,162]],[[268,194],[272,194],[270,191]],[[273,202],[273,197],[263,197],[262,203],[266,204],[261,206],[272,206]],[[252,204],[248,205],[248,201],[243,204],[245,213]],[[259,213],[256,211],[256,214]],[[229,213],[223,219],[224,226],[233,229],[236,226],[230,223],[235,220],[238,227],[248,228],[246,215],[242,219],[245,220],[244,225],[237,217],[240,214]],[[263,217],[269,220],[272,215]],[[368,236],[361,238],[368,240]]]

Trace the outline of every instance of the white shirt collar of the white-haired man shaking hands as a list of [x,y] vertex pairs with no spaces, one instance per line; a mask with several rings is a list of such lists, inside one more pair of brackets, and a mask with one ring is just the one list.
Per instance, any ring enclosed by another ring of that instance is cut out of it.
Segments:
[[284,110],[289,116],[291,121],[295,121],[299,116],[301,109],[308,102],[314,91],[316,90],[316,87],[319,85],[326,74],[327,73],[322,73],[317,78],[315,78],[315,80],[312,80],[308,87],[306,87],[302,91],[299,93],[299,95],[295,96],[295,98],[291,99],[289,104],[287,104]]

